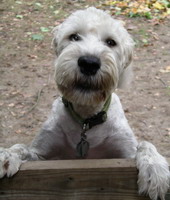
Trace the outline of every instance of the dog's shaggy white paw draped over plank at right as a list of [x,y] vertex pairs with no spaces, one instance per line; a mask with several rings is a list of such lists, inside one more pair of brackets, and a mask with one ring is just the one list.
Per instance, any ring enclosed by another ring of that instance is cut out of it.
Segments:
[[169,165],[154,145],[141,142],[136,154],[136,165],[139,170],[139,194],[148,194],[152,200],[165,199],[170,184]]

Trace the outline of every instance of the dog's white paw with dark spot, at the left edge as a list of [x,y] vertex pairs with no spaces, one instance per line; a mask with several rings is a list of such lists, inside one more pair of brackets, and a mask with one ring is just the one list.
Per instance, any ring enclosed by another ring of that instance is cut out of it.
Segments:
[[0,178],[7,175],[7,177],[13,176],[21,165],[21,159],[19,159],[16,153],[10,152],[9,149],[0,148]]

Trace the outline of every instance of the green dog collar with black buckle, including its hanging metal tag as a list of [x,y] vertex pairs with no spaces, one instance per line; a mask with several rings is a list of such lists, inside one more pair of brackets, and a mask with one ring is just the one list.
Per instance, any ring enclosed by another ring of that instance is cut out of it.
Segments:
[[111,102],[111,96],[107,99],[105,102],[103,109],[97,113],[96,115],[83,119],[78,113],[74,111],[73,105],[71,102],[67,101],[64,97],[62,97],[63,104],[65,105],[66,109],[68,110],[69,114],[72,116],[72,118],[78,122],[82,127],[81,132],[81,140],[77,144],[76,150],[77,150],[77,157],[78,158],[85,158],[87,156],[88,150],[89,150],[89,142],[86,140],[86,132],[91,129],[93,126],[96,126],[98,124],[101,124],[106,121],[107,119],[107,111],[110,106]]

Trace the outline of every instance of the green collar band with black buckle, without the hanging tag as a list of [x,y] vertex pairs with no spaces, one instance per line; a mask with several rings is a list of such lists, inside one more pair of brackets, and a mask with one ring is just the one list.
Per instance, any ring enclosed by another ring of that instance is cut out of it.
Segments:
[[103,109],[98,114],[96,114],[90,118],[87,118],[87,119],[83,119],[78,113],[76,113],[74,111],[72,103],[67,101],[64,97],[62,98],[62,101],[63,101],[65,107],[67,108],[68,112],[72,116],[72,118],[76,122],[78,122],[83,129],[84,129],[84,126],[86,126],[85,129],[88,130],[88,129],[91,129],[93,126],[96,126],[96,125],[101,124],[106,121],[107,111],[108,111],[108,108],[109,108],[110,102],[111,102],[111,96],[109,96],[109,98],[107,99],[107,101],[105,102],[105,104],[103,106]]

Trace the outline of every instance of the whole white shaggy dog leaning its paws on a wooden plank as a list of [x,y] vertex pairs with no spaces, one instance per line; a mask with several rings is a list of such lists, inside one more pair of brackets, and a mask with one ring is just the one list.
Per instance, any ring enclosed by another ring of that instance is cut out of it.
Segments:
[[137,143],[114,90],[129,77],[134,42],[122,23],[96,8],[73,13],[54,30],[55,80],[62,98],[30,146],[0,150],[0,177],[40,159],[136,158],[139,193],[164,199],[168,163]]

